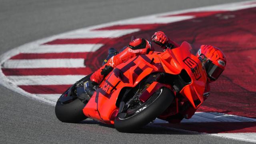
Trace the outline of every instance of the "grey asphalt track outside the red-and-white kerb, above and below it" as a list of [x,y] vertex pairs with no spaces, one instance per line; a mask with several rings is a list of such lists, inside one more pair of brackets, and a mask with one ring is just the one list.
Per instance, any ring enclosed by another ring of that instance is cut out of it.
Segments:
[[[236,1],[2,0],[0,53],[26,42],[94,24]],[[53,106],[2,86],[0,92],[0,143],[249,143],[155,126],[124,134],[92,120],[66,124],[56,119]]]

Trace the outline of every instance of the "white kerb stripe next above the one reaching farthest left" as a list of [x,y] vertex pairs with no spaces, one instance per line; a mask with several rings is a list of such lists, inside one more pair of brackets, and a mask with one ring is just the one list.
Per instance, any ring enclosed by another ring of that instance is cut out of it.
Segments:
[[61,53],[61,52],[95,52],[103,44],[53,44],[40,45],[22,53]]

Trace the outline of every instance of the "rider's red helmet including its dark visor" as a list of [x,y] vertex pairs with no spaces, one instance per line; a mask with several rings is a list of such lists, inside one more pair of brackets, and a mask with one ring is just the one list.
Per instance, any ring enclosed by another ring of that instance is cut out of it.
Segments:
[[226,66],[226,56],[215,46],[202,45],[196,57],[200,59],[207,73],[208,82],[217,80]]

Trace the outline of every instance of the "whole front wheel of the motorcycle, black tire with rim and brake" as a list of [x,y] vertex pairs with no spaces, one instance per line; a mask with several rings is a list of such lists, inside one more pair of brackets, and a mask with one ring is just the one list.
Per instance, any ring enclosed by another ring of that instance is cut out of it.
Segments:
[[[144,103],[131,98],[121,113],[116,116],[114,126],[119,132],[131,132],[139,129],[162,114],[174,100],[174,93],[162,87]],[[128,106],[128,108],[127,108]]]

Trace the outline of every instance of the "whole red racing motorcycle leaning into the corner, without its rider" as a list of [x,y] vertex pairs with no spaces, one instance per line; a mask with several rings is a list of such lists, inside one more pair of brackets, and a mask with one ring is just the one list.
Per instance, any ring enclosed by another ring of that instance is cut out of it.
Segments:
[[131,132],[155,118],[178,114],[182,103],[197,109],[204,102],[207,74],[196,52],[183,42],[165,52],[136,56],[116,66],[91,97],[85,90],[88,75],[60,96],[56,116],[62,122],[92,118]]

